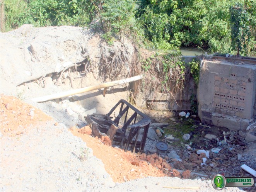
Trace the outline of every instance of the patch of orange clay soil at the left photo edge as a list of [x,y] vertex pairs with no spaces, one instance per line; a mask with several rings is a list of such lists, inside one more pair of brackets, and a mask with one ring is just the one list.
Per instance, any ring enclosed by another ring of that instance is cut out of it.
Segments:
[[[51,121],[51,117],[44,114],[16,97],[1,95],[1,133],[3,136],[23,134],[40,122]],[[31,112],[32,111],[32,112]]]

